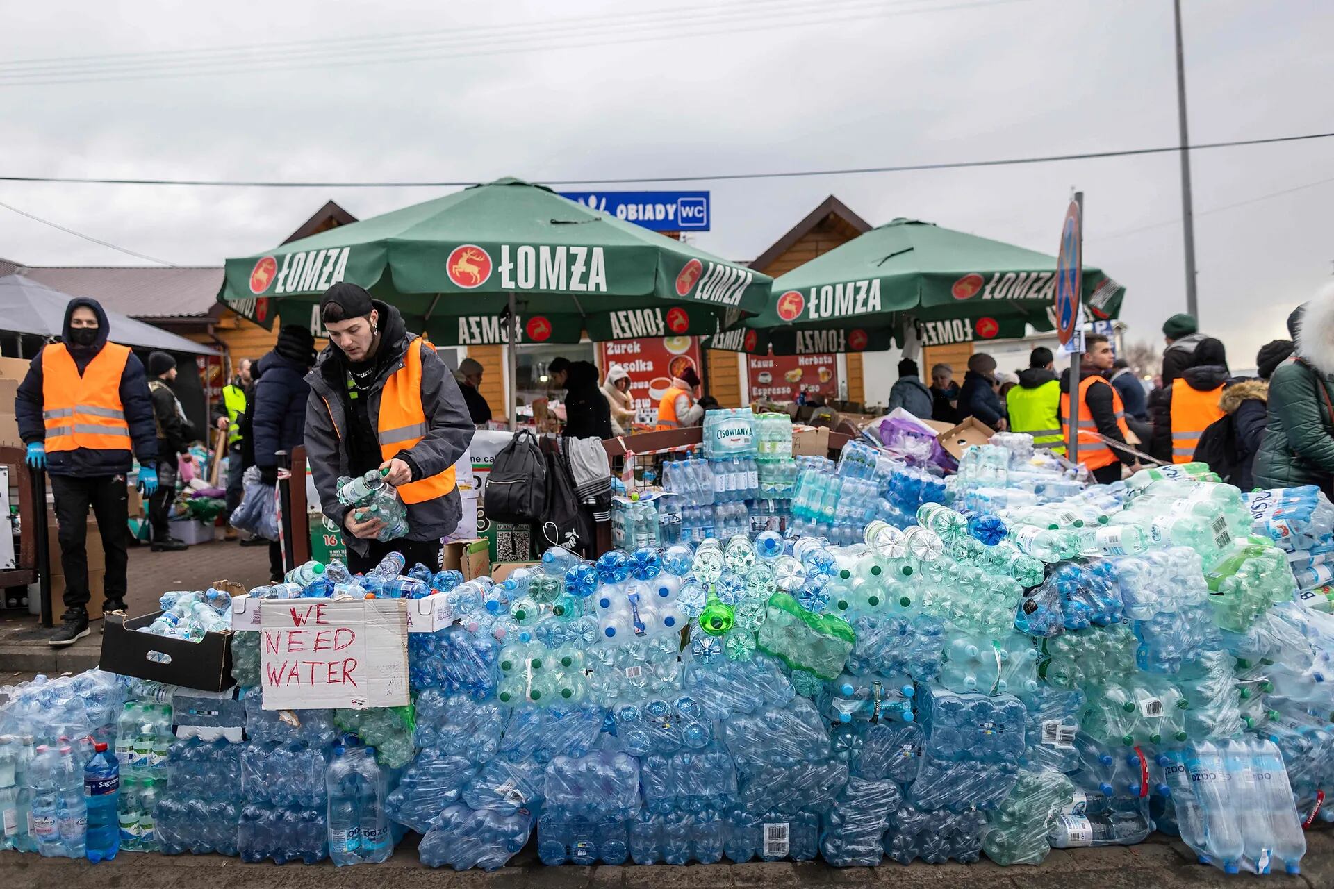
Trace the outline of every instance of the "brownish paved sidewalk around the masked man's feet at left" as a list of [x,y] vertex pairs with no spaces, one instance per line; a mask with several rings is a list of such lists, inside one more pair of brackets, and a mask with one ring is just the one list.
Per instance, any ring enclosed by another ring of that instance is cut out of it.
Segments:
[[[157,598],[169,589],[205,589],[217,580],[235,580],[247,589],[268,580],[268,548],[241,546],[215,540],[176,553],[149,552],[147,545],[129,548],[125,606],[131,616],[157,610]],[[55,602],[56,620],[64,610]],[[92,633],[64,649],[47,645],[51,630],[29,614],[0,617],[0,677],[9,673],[77,672],[97,665],[101,622]],[[4,680],[0,678],[0,684]]]

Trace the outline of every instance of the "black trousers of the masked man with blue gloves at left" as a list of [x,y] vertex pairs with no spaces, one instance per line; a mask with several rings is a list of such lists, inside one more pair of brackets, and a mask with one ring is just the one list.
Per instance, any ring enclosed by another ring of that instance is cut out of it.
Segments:
[[125,537],[129,533],[128,490],[124,476],[48,476],[56,497],[60,566],[65,573],[65,609],[87,608],[88,590],[88,506],[97,518],[101,548],[107,556],[107,601],[116,606],[125,598],[125,565],[129,561]]

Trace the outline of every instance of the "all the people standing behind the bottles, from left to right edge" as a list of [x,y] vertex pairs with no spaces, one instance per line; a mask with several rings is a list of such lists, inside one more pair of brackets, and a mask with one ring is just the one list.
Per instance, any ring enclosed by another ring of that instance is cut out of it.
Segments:
[[[407,504],[412,530],[392,549],[432,564],[439,540],[460,517],[452,466],[492,419],[480,393],[483,367],[464,359],[451,372],[426,340],[407,332],[396,308],[360,287],[336,284],[319,312],[329,336],[319,355],[307,327],[284,325],[273,349],[240,361],[223,389],[213,424],[227,435],[228,510],[241,500],[247,468],[257,469],[260,484],[276,485],[279,454],[304,444],[324,510],[347,532],[354,572],[376,564],[390,544],[376,540],[379,520],[338,505],[336,481],[371,469],[387,473]],[[1066,449],[1073,419],[1078,458],[1101,482],[1153,462],[1203,461],[1242,489],[1318,485],[1334,496],[1334,288],[1294,311],[1287,329],[1290,339],[1259,349],[1254,376],[1237,376],[1222,341],[1201,333],[1190,315],[1174,315],[1162,327],[1166,348],[1153,388],[1101,335],[1085,337],[1075,379],[1069,369],[1057,372],[1046,348],[1014,373],[999,371],[991,355],[974,353],[962,384],[947,364],[934,365],[927,384],[904,359],[888,407],[944,423],[975,417],[996,431],[1030,433],[1057,453]],[[32,359],[16,395],[27,461],[47,470],[55,496],[65,612],[52,645],[88,633],[89,509],[105,553],[104,610],[124,608],[125,478],[135,461],[151,548],[185,546],[169,526],[176,472],[204,436],[172,389],[176,360],[152,352],[141,363],[108,335],[95,300],[71,300],[61,341]],[[548,365],[548,387],[564,392],[566,436],[699,425],[716,407],[687,367],[660,396],[654,423],[640,425],[628,371],[611,365],[599,379],[590,361],[558,357]],[[271,576],[280,578],[279,544],[245,542],[268,544]]]

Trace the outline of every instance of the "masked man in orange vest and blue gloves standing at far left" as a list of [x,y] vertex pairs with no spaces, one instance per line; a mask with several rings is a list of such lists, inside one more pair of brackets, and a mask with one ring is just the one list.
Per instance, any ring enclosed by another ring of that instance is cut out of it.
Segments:
[[13,404],[28,465],[45,466],[56,498],[65,612],[48,640],[53,646],[88,634],[88,508],[107,560],[103,610],[124,610],[131,452],[139,457],[140,490],[157,489],[157,435],[144,365],[108,335],[107,313],[96,300],[69,300],[61,341],[32,359]]

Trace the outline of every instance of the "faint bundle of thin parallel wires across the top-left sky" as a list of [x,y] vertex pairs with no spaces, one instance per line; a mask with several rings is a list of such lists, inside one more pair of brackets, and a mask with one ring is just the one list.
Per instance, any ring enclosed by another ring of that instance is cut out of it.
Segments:
[[[755,0],[724,8],[696,5],[610,15],[591,23],[584,19],[552,19],[534,24],[482,25],[412,35],[342,37],[321,41],[261,44],[259,47],[29,59],[0,64],[0,87],[264,73],[311,68],[325,63],[336,64],[340,68],[366,64],[400,64],[434,59],[575,49],[611,43],[643,43],[716,33],[815,27],[867,16],[890,17],[950,12],[1031,1],[964,0],[935,4],[928,3],[928,0],[904,0],[890,4],[883,0],[824,0],[819,8],[811,8],[806,0]],[[910,8],[910,4],[916,5]],[[275,55],[276,51],[280,51],[280,55]]]

